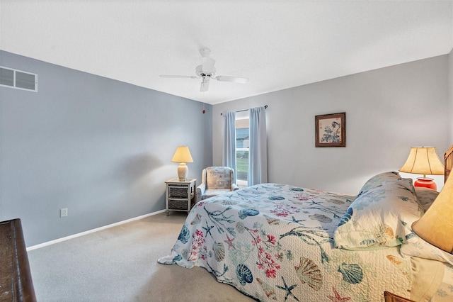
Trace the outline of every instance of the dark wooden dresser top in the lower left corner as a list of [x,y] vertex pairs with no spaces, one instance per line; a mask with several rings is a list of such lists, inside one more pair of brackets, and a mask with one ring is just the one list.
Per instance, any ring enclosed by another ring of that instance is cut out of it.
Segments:
[[36,301],[20,219],[0,222],[0,301]]

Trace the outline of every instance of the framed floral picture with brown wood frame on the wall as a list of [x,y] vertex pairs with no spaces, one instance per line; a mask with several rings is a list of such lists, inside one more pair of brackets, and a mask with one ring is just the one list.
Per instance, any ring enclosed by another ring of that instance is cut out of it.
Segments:
[[315,116],[316,147],[346,147],[346,113]]

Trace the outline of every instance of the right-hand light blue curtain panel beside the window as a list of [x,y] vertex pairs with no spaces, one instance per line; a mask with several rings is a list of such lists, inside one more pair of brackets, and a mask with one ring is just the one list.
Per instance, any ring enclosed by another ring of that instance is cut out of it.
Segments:
[[248,109],[250,114],[250,149],[248,151],[248,186],[268,182],[268,138],[265,107]]

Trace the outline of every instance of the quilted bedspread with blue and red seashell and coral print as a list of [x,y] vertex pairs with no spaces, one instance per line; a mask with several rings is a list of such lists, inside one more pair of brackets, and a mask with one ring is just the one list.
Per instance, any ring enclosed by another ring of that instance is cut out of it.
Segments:
[[333,233],[355,196],[259,184],[197,203],[161,264],[204,267],[259,301],[384,301],[408,296],[398,247],[348,251]]

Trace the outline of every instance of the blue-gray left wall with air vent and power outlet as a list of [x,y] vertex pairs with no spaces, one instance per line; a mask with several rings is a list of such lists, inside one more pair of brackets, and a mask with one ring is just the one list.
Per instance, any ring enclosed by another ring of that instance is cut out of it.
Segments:
[[0,220],[21,218],[28,246],[164,209],[178,145],[189,177],[212,164],[212,106],[9,52],[0,65],[38,74],[37,93],[0,87]]

